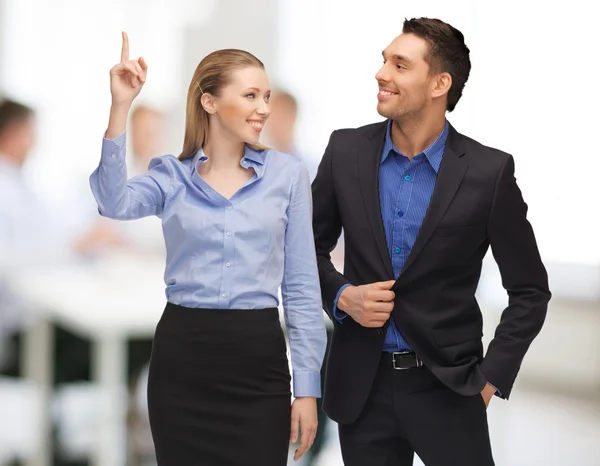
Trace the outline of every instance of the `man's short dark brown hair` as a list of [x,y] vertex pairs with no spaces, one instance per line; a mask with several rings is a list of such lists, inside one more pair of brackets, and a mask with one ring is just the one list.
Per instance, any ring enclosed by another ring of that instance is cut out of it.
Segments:
[[462,96],[469,79],[471,60],[465,37],[455,27],[433,18],[406,19],[402,32],[414,34],[429,44],[429,53],[425,61],[432,73],[449,73],[452,86],[448,91],[447,110],[451,112]]

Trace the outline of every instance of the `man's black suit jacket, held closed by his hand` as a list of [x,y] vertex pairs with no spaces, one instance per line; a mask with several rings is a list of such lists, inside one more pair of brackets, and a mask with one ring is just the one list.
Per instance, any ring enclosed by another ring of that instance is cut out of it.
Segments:
[[[386,124],[333,132],[312,185],[323,304],[334,322],[323,406],[342,424],[353,422],[367,400],[387,328],[351,318],[340,324],[332,314],[342,285],[394,279],[379,205]],[[392,288],[391,318],[425,365],[460,394],[475,395],[489,382],[508,398],[544,322],[548,278],[526,214],[512,156],[450,127],[429,208]],[[340,274],[330,252],[342,228]],[[490,245],[509,304],[483,357],[475,291]]]

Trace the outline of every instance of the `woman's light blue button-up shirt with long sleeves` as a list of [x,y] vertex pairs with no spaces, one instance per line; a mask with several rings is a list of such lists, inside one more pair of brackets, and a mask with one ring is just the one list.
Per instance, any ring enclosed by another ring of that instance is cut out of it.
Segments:
[[153,159],[127,180],[125,134],[104,139],[90,185],[100,214],[162,218],[166,296],[191,308],[277,307],[281,285],[294,395],[320,396],[326,336],[312,233],[309,175],[302,162],[249,147],[241,165],[254,176],[230,199],[198,174],[202,150],[180,161]]

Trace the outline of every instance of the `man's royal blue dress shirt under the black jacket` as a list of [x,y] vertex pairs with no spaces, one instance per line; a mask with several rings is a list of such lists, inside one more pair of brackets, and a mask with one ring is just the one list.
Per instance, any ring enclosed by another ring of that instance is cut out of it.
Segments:
[[[448,122],[438,138],[422,153],[414,156],[412,162],[394,146],[391,124],[390,120],[379,165],[379,202],[388,253],[394,278],[397,279],[415,244],[429,207],[448,138]],[[334,313],[338,321],[347,317],[346,313],[337,309],[339,297],[347,286],[350,285],[340,288],[335,299]],[[394,352],[410,349],[392,319],[383,350]]]

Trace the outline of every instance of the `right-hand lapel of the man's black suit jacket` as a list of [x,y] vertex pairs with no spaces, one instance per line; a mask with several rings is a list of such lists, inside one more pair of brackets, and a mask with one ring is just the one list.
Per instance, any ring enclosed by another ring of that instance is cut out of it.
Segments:
[[[404,275],[406,270],[415,261],[415,258],[422,251],[423,247],[429,241],[432,233],[437,228],[440,220],[448,210],[460,183],[468,169],[467,157],[464,157],[465,150],[461,144],[460,135],[450,126],[448,131],[448,139],[444,148],[444,156],[442,164],[437,176],[435,188],[429,202],[429,207],[423,224],[415,240],[415,244],[408,255],[408,259],[404,264],[404,268],[400,273],[400,277]],[[400,279],[399,277],[399,279]]]

